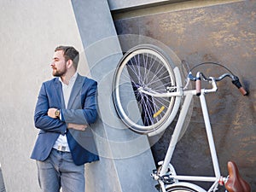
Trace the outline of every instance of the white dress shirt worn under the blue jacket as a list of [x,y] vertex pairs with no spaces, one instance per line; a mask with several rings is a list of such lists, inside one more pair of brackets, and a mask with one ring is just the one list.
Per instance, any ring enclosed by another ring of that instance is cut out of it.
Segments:
[[[61,84],[62,84],[62,92],[63,92],[64,102],[65,102],[65,108],[67,108],[67,103],[69,101],[69,97],[70,97],[71,91],[73,89],[73,84],[75,83],[77,77],[78,77],[78,73],[74,73],[73,77],[69,80],[68,84],[64,84],[62,82],[61,78],[59,78],[59,80],[61,81]],[[60,117],[61,117],[61,115],[60,115]],[[53,148],[58,149],[60,146],[65,147],[65,151],[70,152],[70,148],[68,147],[66,135],[62,136],[60,134],[60,136],[56,140]]]

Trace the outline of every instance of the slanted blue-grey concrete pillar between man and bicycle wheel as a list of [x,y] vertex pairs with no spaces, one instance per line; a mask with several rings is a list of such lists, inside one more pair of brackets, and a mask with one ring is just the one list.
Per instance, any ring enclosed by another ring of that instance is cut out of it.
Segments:
[[92,129],[100,161],[86,166],[86,191],[153,192],[154,159],[148,138],[127,129],[113,107],[113,73],[123,55],[108,2],[72,2],[90,73],[98,82],[100,118]]

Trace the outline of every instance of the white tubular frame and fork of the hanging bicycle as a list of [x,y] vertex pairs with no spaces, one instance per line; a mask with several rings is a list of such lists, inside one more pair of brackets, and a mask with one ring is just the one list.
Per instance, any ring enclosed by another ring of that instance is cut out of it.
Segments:
[[[173,179],[177,180],[183,180],[183,181],[203,181],[203,182],[212,182],[212,187],[208,189],[207,191],[216,191],[218,187],[219,182],[224,182],[226,178],[221,177],[220,175],[220,170],[218,166],[218,157],[215,149],[215,144],[212,136],[212,127],[210,124],[210,119],[209,119],[209,114],[207,110],[207,102],[205,98],[205,94],[209,92],[216,92],[217,91],[217,84],[212,78],[212,89],[206,90],[202,89],[201,90],[201,96],[200,96],[200,102],[201,102],[201,109],[202,109],[202,114],[205,122],[205,128],[207,131],[207,140],[209,143],[209,148],[212,156],[212,165],[213,165],[213,170],[214,170],[214,176],[213,177],[200,177],[200,176],[181,176],[181,175],[172,175]],[[174,152],[174,149],[176,148],[177,141],[179,134],[182,130],[183,127],[183,122],[186,117],[186,114],[188,113],[189,110],[189,105],[192,101],[193,96],[196,95],[196,90],[180,90],[177,92],[167,92],[166,94],[157,94],[157,93],[152,93],[148,92],[146,90],[142,90],[144,93],[151,95],[151,96],[185,96],[184,102],[183,102],[183,107],[181,109],[181,112],[179,114],[179,117],[177,119],[177,124],[175,126],[175,129],[172,134],[172,139],[169,144],[169,147],[166,152],[166,157],[165,160],[163,161],[161,170],[160,170],[160,176],[163,176],[166,174],[168,166],[172,160],[172,154]],[[160,186],[163,192],[166,191],[165,184],[160,181]],[[191,183],[191,188],[195,188],[195,184]],[[198,190],[198,189],[197,189]],[[201,191],[206,191],[202,189]]]

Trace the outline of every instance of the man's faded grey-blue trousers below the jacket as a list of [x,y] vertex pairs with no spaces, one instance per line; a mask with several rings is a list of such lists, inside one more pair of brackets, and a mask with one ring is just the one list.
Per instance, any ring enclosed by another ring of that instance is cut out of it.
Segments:
[[52,149],[47,160],[37,160],[38,181],[44,192],[84,192],[84,165],[76,166],[71,153]]

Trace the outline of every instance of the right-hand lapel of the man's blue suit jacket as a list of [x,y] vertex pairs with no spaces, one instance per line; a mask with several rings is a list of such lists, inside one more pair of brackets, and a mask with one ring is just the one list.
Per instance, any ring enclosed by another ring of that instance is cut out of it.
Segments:
[[83,84],[84,84],[84,77],[82,77],[78,74],[78,77],[77,77],[75,83],[73,84],[73,89],[71,91],[69,101],[67,103],[67,108],[72,108],[73,103],[75,102],[77,96],[79,95]]

